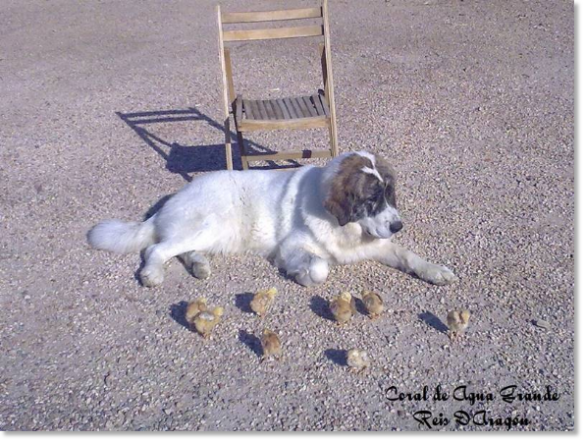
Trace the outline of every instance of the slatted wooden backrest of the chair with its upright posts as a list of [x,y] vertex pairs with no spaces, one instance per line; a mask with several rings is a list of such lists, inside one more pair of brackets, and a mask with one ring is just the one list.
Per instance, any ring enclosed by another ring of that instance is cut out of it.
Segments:
[[[219,26],[219,54],[223,72],[225,90],[225,105],[229,108],[235,100],[232,66],[229,49],[224,42],[270,40],[295,37],[322,37],[321,61],[323,69],[323,84],[325,97],[333,107],[333,74],[331,72],[331,48],[329,45],[329,21],[327,0],[322,0],[322,6],[317,8],[288,9],[263,12],[222,12],[217,6]],[[280,22],[289,20],[318,19],[318,24],[311,26],[293,26],[285,28],[264,28],[245,30],[224,30],[226,25],[240,23]]]

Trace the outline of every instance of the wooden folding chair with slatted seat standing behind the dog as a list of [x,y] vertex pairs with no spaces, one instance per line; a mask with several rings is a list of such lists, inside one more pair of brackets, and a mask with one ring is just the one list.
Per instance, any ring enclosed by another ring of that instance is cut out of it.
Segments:
[[[233,115],[238,145],[242,157],[242,167],[248,169],[252,161],[295,160],[299,158],[324,158],[338,154],[337,126],[335,123],[335,100],[333,97],[333,74],[331,71],[331,47],[329,44],[329,22],[327,17],[327,0],[318,8],[289,9],[265,12],[221,11],[217,6],[219,25],[219,58],[223,73],[224,111],[225,111],[225,153],[227,168],[233,169],[230,114]],[[224,30],[225,25],[237,23],[259,23],[284,20],[318,19],[318,25],[296,26],[288,28]],[[236,95],[232,76],[230,51],[225,42],[266,40],[275,38],[320,37],[321,67],[323,70],[324,93],[315,90],[302,97],[272,100],[251,100]],[[273,154],[252,153],[244,145],[244,132],[276,129],[312,129],[328,128],[330,149],[302,150]]]

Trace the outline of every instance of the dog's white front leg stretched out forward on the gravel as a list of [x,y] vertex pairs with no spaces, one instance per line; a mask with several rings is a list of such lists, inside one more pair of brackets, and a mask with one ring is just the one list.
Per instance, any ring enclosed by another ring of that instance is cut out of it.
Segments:
[[425,261],[416,253],[389,241],[379,243],[374,255],[378,262],[416,275],[431,284],[447,285],[458,280],[447,267]]

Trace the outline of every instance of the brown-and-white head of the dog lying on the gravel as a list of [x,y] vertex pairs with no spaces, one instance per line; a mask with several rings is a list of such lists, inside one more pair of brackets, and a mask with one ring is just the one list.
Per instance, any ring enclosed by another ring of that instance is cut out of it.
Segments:
[[374,238],[402,229],[396,207],[394,173],[378,155],[351,152],[333,160],[325,172],[323,205],[340,226],[358,223]]

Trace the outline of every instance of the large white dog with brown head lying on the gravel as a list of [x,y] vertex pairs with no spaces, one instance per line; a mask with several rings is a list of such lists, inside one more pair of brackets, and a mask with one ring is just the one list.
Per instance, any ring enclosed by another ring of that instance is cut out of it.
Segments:
[[402,229],[394,175],[377,155],[350,152],[325,167],[287,172],[221,171],[198,176],[142,223],[104,221],[88,233],[96,249],[146,248],[145,286],[163,282],[179,256],[207,278],[206,255],[253,252],[303,286],[327,279],[329,266],[374,259],[432,284],[457,277],[394,244]]

